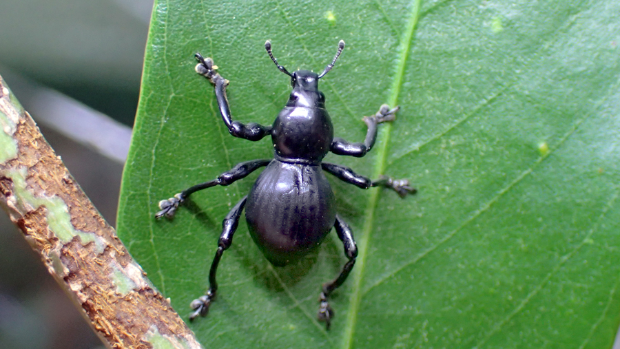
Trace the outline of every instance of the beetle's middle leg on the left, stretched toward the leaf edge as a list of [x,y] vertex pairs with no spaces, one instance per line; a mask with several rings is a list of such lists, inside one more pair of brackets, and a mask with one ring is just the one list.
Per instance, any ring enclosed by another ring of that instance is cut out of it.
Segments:
[[210,187],[215,187],[216,185],[226,186],[232,184],[236,180],[245,178],[250,173],[256,171],[256,169],[269,165],[269,162],[271,162],[271,160],[269,159],[241,162],[240,164],[237,164],[235,167],[233,167],[230,171],[226,171],[220,174],[220,176],[218,176],[218,178],[214,180],[209,180],[209,182],[196,184],[194,185],[194,187],[189,187],[188,189],[185,189],[184,191],[175,194],[172,198],[169,198],[167,200],[161,200],[159,202],[159,209],[161,209],[161,211],[155,214],[155,218],[162,218],[164,215],[167,218],[172,218],[174,217],[174,213],[176,213],[178,205],[182,204],[192,193]]

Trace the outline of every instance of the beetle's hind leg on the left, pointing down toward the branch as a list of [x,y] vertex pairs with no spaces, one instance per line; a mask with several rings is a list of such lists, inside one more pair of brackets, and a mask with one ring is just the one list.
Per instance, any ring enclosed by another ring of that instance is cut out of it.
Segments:
[[247,195],[245,195],[233,209],[226,215],[224,221],[222,222],[222,235],[220,235],[220,240],[218,240],[218,251],[216,251],[216,255],[211,262],[211,269],[209,271],[209,290],[205,295],[194,299],[189,306],[192,307],[194,313],[189,315],[189,320],[192,321],[198,315],[205,316],[209,313],[209,305],[211,305],[211,301],[216,296],[218,290],[218,283],[216,282],[216,273],[218,271],[218,265],[220,264],[220,259],[222,258],[222,254],[225,250],[227,250],[232,244],[232,237],[237,230],[237,226],[239,225],[239,218],[241,217],[241,211],[243,211],[243,207],[245,207],[245,202],[247,200]]

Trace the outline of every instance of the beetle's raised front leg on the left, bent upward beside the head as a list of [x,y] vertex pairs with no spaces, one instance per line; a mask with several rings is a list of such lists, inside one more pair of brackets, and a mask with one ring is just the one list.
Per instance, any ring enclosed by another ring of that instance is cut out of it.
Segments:
[[205,78],[208,78],[209,81],[211,81],[211,83],[215,86],[218,106],[220,107],[220,114],[222,115],[222,119],[224,120],[226,127],[228,127],[228,131],[231,135],[238,138],[256,141],[261,140],[268,134],[271,134],[271,126],[262,126],[257,123],[249,123],[246,125],[238,121],[233,121],[230,114],[230,108],[228,106],[228,98],[226,97],[226,87],[230,82],[216,72],[218,67],[213,64],[213,59],[205,59],[197,53],[196,60],[200,62],[196,65],[196,72],[202,76],[205,76]]

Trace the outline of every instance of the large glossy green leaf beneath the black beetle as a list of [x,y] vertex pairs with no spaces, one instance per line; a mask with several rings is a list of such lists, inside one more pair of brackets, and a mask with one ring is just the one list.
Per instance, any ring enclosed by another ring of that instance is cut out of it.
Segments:
[[[335,134],[401,106],[364,158],[328,156],[419,189],[363,191],[331,178],[359,256],[316,320],[320,285],[346,261],[331,236],[273,267],[242,222],[218,298],[191,324],[214,348],[610,348],[620,322],[620,2],[156,1],[118,233],[186,319],[207,284],[220,222],[252,174],[192,195],[174,220],[158,200],[269,158],[229,136],[193,55],[213,57],[236,120],[269,125],[289,70],[320,71]],[[278,219],[274,217],[273,219]]]

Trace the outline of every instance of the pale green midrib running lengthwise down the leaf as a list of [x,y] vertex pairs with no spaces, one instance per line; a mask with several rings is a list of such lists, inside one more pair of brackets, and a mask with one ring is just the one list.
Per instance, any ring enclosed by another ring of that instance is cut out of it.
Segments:
[[[398,54],[398,65],[396,74],[393,78],[392,85],[390,87],[390,94],[388,98],[388,104],[390,106],[396,105],[398,101],[398,95],[400,94],[400,88],[402,87],[402,79],[404,76],[404,70],[406,61],[409,57],[409,50],[411,47],[411,41],[413,40],[413,32],[417,28],[417,21],[420,19],[420,5],[422,0],[413,0],[413,7],[411,8],[411,14],[409,21],[406,24],[406,30],[400,40],[400,52]],[[373,178],[378,178],[385,171],[387,148],[389,143],[389,137],[391,134],[392,126],[387,124],[381,132],[381,142],[377,151],[377,160],[375,163],[375,169],[373,171]],[[364,266],[366,264],[366,256],[368,251],[368,242],[371,238],[371,231],[373,230],[375,210],[379,200],[379,190],[374,189],[371,191],[371,195],[364,211],[364,228],[362,229],[362,235],[358,240],[358,257],[356,259],[356,267],[353,268],[353,295],[351,295],[351,302],[349,305],[349,313],[347,315],[347,326],[344,328],[344,341],[342,348],[350,349],[353,347],[353,335],[355,335],[355,324],[358,319],[358,310],[360,308],[360,302],[362,297],[362,278],[364,277]]]

